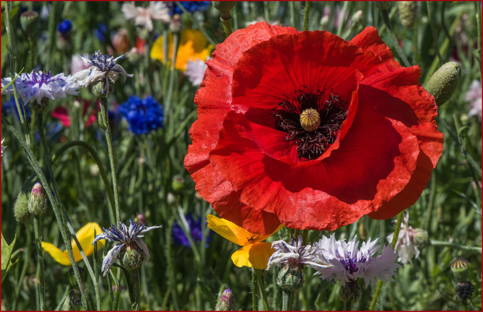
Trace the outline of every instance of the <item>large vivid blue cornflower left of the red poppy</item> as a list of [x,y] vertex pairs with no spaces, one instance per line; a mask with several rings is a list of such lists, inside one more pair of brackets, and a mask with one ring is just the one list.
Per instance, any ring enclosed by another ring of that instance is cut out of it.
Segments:
[[128,101],[119,106],[119,113],[129,123],[129,131],[138,135],[157,128],[163,128],[163,106],[148,95],[144,99],[129,96]]

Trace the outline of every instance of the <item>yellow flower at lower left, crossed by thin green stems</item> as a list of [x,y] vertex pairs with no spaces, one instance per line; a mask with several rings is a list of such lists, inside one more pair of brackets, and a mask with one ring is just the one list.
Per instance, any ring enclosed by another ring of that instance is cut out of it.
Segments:
[[[85,255],[92,255],[94,253],[94,246],[92,246],[92,241],[94,240],[94,229],[96,229],[96,234],[102,233],[99,224],[95,222],[89,222],[84,227],[81,227],[75,233],[77,239],[81,243],[82,250],[84,250]],[[100,249],[104,246],[106,240],[100,240],[97,243],[97,248]],[[43,241],[42,242],[42,249],[43,251],[48,252],[58,263],[64,266],[71,266],[71,259],[69,258],[69,254],[67,253],[67,249],[64,251],[60,251],[56,246],[51,244],[50,242]],[[72,252],[74,254],[75,261],[79,261],[82,259],[81,252],[79,251],[79,247],[74,240],[72,240]]]

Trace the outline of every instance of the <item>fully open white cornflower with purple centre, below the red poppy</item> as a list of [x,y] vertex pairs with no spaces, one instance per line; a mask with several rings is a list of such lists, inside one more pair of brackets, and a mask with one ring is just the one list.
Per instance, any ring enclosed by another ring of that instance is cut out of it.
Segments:
[[358,278],[363,278],[366,287],[369,282],[376,284],[377,277],[383,282],[394,282],[392,275],[397,273],[401,265],[394,263],[398,254],[389,246],[383,248],[381,255],[373,257],[381,245],[376,245],[376,241],[363,242],[358,249],[357,235],[348,243],[345,240],[335,240],[334,234],[329,238],[323,236],[321,240],[315,242],[315,246],[322,251],[322,255],[327,259],[331,267],[317,269],[314,275],[320,274],[320,278],[329,280],[329,283],[336,283],[336,279],[341,284],[354,282]]

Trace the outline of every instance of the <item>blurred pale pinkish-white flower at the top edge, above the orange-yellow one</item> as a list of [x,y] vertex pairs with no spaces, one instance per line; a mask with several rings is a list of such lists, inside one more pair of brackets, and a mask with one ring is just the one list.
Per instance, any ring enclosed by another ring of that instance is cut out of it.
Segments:
[[153,19],[168,24],[170,22],[170,10],[162,1],[151,1],[147,8],[134,5],[134,2],[127,2],[122,5],[122,12],[126,19],[134,19],[134,24],[153,30]]

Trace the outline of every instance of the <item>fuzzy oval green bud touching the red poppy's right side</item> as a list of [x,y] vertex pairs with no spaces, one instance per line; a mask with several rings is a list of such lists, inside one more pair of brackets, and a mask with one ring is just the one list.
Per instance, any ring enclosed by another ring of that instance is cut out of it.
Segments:
[[441,106],[451,98],[458,86],[461,77],[461,67],[456,62],[443,64],[429,79],[425,89],[436,100],[436,105]]

